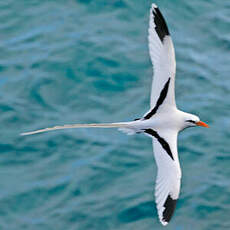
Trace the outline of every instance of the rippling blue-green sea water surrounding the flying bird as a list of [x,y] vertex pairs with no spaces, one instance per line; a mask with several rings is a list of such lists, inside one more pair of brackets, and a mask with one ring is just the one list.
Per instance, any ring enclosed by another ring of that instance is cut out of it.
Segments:
[[[179,137],[167,229],[230,229],[230,1],[155,1],[176,49],[176,97],[211,128]],[[151,139],[53,125],[132,120],[149,108],[151,1],[0,3],[0,229],[164,229]]]

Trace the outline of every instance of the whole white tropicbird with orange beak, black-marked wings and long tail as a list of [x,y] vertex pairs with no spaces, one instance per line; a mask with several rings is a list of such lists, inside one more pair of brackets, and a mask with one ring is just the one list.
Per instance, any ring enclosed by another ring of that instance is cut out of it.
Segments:
[[157,164],[155,196],[158,216],[163,225],[170,221],[180,192],[181,169],[177,153],[177,136],[185,128],[209,127],[199,117],[177,109],[175,102],[176,61],[174,47],[167,24],[152,4],[149,19],[149,53],[154,66],[150,110],[131,122],[104,124],[72,124],[22,133],[31,135],[57,129],[119,128],[132,135],[144,133],[153,139]]

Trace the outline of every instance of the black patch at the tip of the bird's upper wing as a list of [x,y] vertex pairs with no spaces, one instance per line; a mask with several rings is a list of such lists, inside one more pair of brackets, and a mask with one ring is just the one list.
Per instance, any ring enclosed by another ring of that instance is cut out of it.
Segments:
[[155,4],[152,4],[152,15],[153,15],[154,23],[156,25],[155,30],[161,42],[163,43],[165,36],[170,35],[170,33],[163,15],[161,14],[159,8]]

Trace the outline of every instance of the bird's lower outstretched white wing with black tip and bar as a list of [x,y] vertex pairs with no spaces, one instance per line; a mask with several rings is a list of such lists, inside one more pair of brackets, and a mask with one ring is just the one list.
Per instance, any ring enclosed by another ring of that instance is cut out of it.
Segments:
[[145,133],[153,138],[157,164],[155,197],[158,216],[163,225],[170,221],[180,193],[181,169],[177,153],[177,133],[162,133],[152,129]]

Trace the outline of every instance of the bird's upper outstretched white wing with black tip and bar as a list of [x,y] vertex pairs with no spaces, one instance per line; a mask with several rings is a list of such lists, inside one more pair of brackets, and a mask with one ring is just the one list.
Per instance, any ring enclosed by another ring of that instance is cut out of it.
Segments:
[[151,110],[156,112],[164,105],[176,106],[174,92],[176,60],[167,24],[155,4],[152,4],[150,9],[148,41],[154,68],[150,105]]

